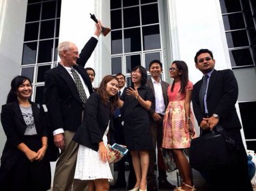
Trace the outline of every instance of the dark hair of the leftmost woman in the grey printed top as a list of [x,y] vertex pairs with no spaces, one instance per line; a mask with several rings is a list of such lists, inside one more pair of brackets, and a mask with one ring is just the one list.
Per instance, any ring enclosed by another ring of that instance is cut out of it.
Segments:
[[11,90],[7,96],[7,101],[6,103],[11,103],[13,101],[17,101],[17,90],[18,90],[18,86],[20,86],[21,84],[23,84],[26,80],[29,81],[29,83],[32,85],[31,80],[29,79],[29,77],[23,76],[23,75],[18,75],[16,77],[14,77],[14,79],[12,79],[11,82]]

